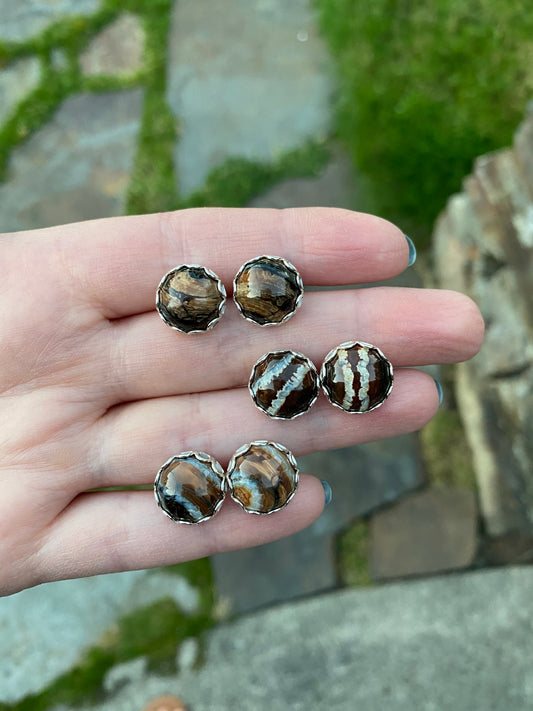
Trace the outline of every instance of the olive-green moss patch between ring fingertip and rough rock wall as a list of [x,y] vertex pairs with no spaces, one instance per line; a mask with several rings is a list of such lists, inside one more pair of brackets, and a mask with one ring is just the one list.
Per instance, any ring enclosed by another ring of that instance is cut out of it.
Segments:
[[420,433],[431,484],[476,489],[470,448],[456,410],[441,410]]

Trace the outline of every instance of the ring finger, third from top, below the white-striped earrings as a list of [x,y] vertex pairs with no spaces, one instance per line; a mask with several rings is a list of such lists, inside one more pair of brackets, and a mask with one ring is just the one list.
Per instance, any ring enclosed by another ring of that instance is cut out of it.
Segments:
[[253,405],[244,388],[182,395],[117,408],[91,433],[92,467],[73,481],[77,491],[151,484],[159,467],[182,451],[208,452],[223,466],[242,444],[280,442],[295,456],[336,449],[420,429],[438,408],[433,378],[399,370],[388,400],[363,415],[350,415],[321,396],[292,422],[273,420]]

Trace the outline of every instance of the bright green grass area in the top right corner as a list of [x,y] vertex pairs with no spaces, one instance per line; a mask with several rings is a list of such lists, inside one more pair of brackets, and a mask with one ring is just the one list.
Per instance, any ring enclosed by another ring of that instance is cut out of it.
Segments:
[[337,60],[338,133],[367,208],[427,238],[472,161],[533,93],[533,10],[508,0],[315,0]]

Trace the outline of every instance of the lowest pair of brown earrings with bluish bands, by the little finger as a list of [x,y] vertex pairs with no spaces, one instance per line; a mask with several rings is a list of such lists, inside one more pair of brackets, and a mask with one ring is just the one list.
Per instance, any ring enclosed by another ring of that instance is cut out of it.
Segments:
[[222,506],[226,490],[248,513],[271,514],[286,506],[298,486],[293,454],[277,442],[240,447],[224,469],[205,452],[182,452],[159,470],[154,492],[163,512],[178,523],[201,523]]

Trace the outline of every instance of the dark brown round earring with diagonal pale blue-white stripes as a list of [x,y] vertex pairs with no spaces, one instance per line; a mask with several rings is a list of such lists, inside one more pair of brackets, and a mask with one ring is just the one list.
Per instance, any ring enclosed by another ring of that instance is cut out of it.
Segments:
[[252,369],[248,389],[255,405],[276,420],[303,415],[318,397],[318,373],[296,351],[271,351]]

